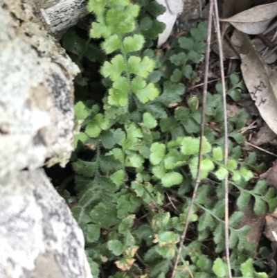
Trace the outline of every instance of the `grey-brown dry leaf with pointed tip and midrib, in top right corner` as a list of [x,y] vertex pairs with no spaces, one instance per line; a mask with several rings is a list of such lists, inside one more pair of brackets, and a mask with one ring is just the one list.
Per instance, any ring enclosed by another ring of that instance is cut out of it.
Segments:
[[232,24],[238,31],[258,35],[267,29],[270,21],[277,15],[277,3],[260,5],[229,17],[220,19]]

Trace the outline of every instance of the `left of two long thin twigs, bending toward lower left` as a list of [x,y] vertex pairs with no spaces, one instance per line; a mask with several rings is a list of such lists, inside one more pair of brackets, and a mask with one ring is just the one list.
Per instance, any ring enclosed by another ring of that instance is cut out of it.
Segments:
[[184,241],[186,238],[186,232],[188,230],[188,223],[190,221],[190,216],[193,211],[193,203],[195,201],[197,189],[200,184],[200,177],[201,177],[201,162],[202,162],[202,155],[203,155],[203,137],[204,137],[204,128],[205,128],[205,107],[206,107],[206,96],[207,96],[207,89],[208,89],[208,67],[209,67],[209,60],[210,60],[210,51],[211,51],[211,31],[212,31],[212,17],[213,17],[213,4],[214,1],[211,1],[210,10],[208,15],[208,34],[207,34],[207,42],[206,42],[206,55],[205,55],[205,72],[204,72],[204,86],[203,86],[203,105],[202,105],[202,115],[201,115],[201,137],[200,137],[200,144],[199,144],[199,155],[198,155],[198,166],[197,166],[197,178],[195,182],[195,188],[193,190],[193,198],[190,201],[190,207],[188,209],[188,216],[186,218],[186,224],[181,234],[180,238],[180,245],[175,261],[175,266],[172,270],[171,278],[174,278],[176,275],[177,266],[179,263],[179,259],[181,256],[181,252],[184,247]]

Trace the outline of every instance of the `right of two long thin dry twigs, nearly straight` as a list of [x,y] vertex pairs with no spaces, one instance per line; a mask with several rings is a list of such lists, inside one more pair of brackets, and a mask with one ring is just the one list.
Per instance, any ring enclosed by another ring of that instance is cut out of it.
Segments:
[[[227,128],[227,103],[226,103],[226,87],[224,78],[224,64],[223,64],[223,51],[222,51],[222,37],[220,35],[220,19],[218,16],[217,1],[215,1],[215,24],[217,26],[217,44],[220,53],[220,75],[222,79],[222,96],[223,96],[223,109],[224,109],[224,164],[228,163],[228,128]],[[229,278],[232,278],[230,254],[229,254],[229,188],[228,188],[228,175],[224,180],[225,187],[225,250],[226,261],[228,265]]]

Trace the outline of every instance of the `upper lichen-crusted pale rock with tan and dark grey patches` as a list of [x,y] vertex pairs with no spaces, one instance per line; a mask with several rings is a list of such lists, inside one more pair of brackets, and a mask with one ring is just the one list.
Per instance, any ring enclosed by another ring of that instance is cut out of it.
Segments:
[[37,18],[33,1],[0,0],[0,180],[68,161],[78,67]]

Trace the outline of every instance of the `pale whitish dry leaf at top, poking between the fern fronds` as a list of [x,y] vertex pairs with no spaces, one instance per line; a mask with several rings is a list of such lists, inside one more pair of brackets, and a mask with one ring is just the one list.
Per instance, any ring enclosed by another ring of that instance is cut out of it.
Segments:
[[161,47],[168,40],[178,14],[183,11],[184,3],[182,0],[157,0],[157,2],[166,7],[166,12],[157,17],[157,20],[166,24],[166,29],[158,39],[158,47]]

